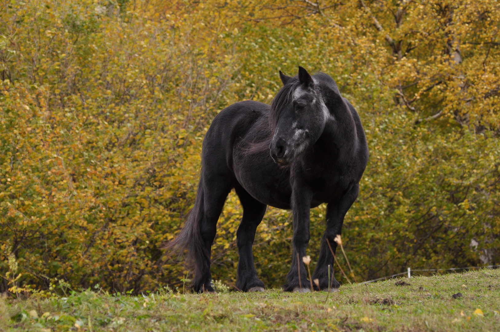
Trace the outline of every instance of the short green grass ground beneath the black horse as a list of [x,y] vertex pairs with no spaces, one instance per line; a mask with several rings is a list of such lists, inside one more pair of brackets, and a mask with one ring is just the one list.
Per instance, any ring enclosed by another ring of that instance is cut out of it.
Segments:
[[[396,285],[398,280],[409,284]],[[452,298],[457,292],[463,297]],[[83,291],[67,297],[7,298],[0,302],[0,313],[10,319],[0,319],[0,330],[500,330],[500,269],[343,285],[325,299],[325,292],[279,289],[147,296]]]

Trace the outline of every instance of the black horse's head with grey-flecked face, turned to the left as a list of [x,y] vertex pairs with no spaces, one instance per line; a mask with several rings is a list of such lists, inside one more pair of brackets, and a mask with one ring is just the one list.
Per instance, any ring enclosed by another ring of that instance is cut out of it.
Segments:
[[274,161],[284,166],[314,144],[331,115],[320,93],[322,82],[307,70],[299,66],[297,76],[279,71],[279,77],[283,87],[271,105],[269,120],[274,134],[269,149]]

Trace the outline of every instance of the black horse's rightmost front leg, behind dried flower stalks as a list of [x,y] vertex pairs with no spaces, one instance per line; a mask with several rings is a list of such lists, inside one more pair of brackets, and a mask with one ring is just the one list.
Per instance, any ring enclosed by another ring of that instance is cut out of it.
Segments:
[[[345,213],[350,208],[359,193],[359,184],[353,185],[344,195],[336,202],[328,203],[326,208],[326,230],[321,239],[321,247],[319,249],[319,259],[317,260],[316,268],[312,274],[312,279],[319,280],[319,288],[321,290],[328,289],[328,265],[330,265],[330,287],[333,291],[337,290],[340,283],[333,276],[333,266],[335,265],[333,255],[326,239],[330,242],[331,249],[335,253],[337,243],[334,241],[335,236],[340,235]],[[316,288],[316,286],[314,286]]]

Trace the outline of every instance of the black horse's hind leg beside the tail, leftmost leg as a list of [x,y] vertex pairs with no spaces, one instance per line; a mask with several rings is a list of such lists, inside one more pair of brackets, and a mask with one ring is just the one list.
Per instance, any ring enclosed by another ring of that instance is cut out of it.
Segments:
[[204,170],[201,172],[200,189],[203,190],[203,212],[199,220],[199,232],[203,254],[195,255],[194,278],[191,286],[196,292],[214,291],[210,273],[211,246],[215,238],[217,220],[224,207],[227,194],[232,188],[231,179],[217,175],[207,176]]

